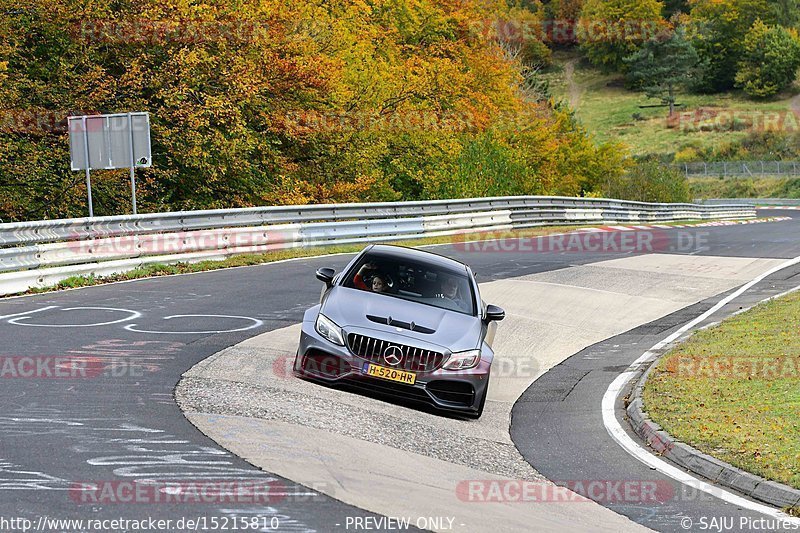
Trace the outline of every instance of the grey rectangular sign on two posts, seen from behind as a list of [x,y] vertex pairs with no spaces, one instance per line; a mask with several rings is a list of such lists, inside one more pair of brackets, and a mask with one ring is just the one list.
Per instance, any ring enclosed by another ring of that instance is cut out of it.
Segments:
[[89,216],[92,205],[92,169],[130,169],[131,203],[136,214],[136,168],[152,166],[150,115],[114,113],[68,117],[71,168],[86,171]]

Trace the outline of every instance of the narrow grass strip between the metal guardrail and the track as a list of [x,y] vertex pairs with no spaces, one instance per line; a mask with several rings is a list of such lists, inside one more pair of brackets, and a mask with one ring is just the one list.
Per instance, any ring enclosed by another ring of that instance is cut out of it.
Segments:
[[[690,220],[682,222],[666,222],[664,225],[675,224],[700,224],[708,222],[707,220]],[[460,240],[491,240],[502,237],[543,237],[552,235],[554,233],[564,233],[566,231],[574,231],[580,228],[596,227],[596,226],[547,226],[529,228],[524,230],[512,231],[490,231],[490,232],[471,232],[461,234],[458,236],[447,235],[441,237],[426,237],[424,239],[411,239],[411,240],[398,240],[387,242],[387,244],[397,244],[401,246],[425,246],[429,244],[447,244]],[[334,246],[317,246],[313,248],[286,248],[281,250],[273,250],[264,253],[255,254],[242,254],[229,257],[224,260],[217,261],[199,261],[196,263],[174,263],[174,264],[152,264],[143,266],[127,272],[119,274],[112,274],[109,276],[72,276],[62,280],[61,282],[50,285],[47,287],[36,287],[29,289],[23,294],[39,294],[43,292],[52,292],[63,289],[75,289],[78,287],[89,287],[92,285],[102,285],[105,283],[114,283],[117,281],[128,281],[133,279],[152,278],[157,276],[171,276],[174,274],[188,274],[192,272],[205,272],[209,270],[218,270],[222,268],[240,267],[261,265],[264,263],[271,263],[274,261],[281,261],[283,259],[295,259],[299,257],[314,257],[319,255],[330,255],[338,253],[357,253],[360,252],[366,243],[348,244],[348,245],[334,245]]]

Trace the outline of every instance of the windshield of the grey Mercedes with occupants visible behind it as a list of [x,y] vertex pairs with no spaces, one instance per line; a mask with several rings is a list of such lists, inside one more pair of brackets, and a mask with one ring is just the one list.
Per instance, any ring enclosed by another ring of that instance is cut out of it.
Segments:
[[440,309],[475,315],[475,295],[465,274],[418,261],[365,254],[343,285]]

